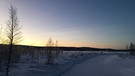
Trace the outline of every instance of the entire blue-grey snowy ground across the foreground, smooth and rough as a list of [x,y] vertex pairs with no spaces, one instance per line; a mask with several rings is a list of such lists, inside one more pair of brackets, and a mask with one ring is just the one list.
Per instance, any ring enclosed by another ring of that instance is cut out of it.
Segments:
[[[126,52],[64,51],[52,65],[46,65],[45,60],[41,54],[34,59],[24,54],[11,67],[10,76],[135,75],[134,56]],[[4,73],[0,72],[0,76],[4,76]]]

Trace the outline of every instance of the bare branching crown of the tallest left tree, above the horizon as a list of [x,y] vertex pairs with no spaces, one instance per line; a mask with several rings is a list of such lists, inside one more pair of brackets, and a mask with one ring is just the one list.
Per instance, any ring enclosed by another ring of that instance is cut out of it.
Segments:
[[[19,26],[19,21],[17,17],[17,9],[12,5],[9,8],[9,20],[7,21],[7,38],[10,40],[11,44],[16,44],[16,42],[20,41],[22,28]],[[16,40],[18,39],[18,40]]]

